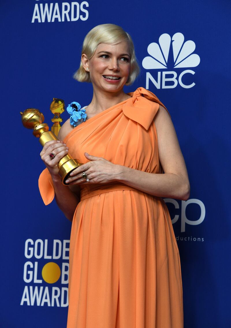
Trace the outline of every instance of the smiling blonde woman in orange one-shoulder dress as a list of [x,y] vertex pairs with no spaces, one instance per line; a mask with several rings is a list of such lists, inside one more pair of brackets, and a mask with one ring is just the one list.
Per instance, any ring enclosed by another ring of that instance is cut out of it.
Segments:
[[[68,328],[183,327],[179,251],[160,197],[188,199],[187,169],[165,106],[144,88],[124,93],[137,75],[129,34],[92,29],[75,74],[93,85],[90,104],[76,110],[87,119],[74,124],[72,115],[63,141],[41,152],[44,203],[55,195],[72,220]],[[68,151],[84,164],[67,187],[57,164]]]

